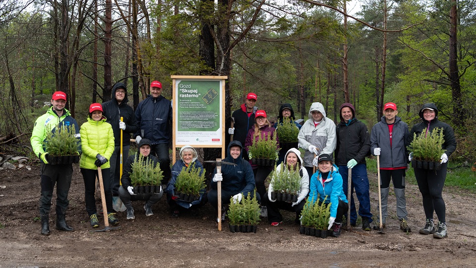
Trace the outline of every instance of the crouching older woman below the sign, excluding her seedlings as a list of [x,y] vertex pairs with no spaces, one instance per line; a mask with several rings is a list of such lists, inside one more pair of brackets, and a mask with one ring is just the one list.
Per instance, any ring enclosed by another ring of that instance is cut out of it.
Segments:
[[192,146],[185,145],[180,148],[179,155],[179,161],[175,162],[174,166],[172,166],[172,178],[170,179],[170,182],[167,185],[167,190],[165,191],[167,193],[167,201],[172,209],[172,216],[176,218],[179,217],[181,208],[190,208],[192,215],[197,215],[198,207],[201,207],[207,202],[205,189],[200,192],[199,200],[192,202],[177,200],[177,196],[175,196],[175,183],[182,169],[184,167],[187,168],[190,165],[195,165],[195,168],[200,170],[199,175],[201,176],[203,173],[203,165],[197,160],[197,151]]

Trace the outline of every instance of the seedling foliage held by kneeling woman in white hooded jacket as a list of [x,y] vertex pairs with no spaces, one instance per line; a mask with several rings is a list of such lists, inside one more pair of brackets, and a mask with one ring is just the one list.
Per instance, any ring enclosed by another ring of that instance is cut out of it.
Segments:
[[275,167],[271,175],[271,183],[275,192],[296,195],[301,189],[299,166],[288,169],[287,165],[283,163],[279,169]]

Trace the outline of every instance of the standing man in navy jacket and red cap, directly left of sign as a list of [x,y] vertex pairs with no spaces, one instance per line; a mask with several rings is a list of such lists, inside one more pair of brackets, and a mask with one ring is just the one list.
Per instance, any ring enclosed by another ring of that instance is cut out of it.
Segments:
[[139,144],[142,138],[150,140],[151,152],[159,159],[160,169],[164,172],[162,188],[165,189],[171,176],[169,128],[172,124],[172,103],[162,96],[161,82],[153,81],[150,84],[150,95],[137,106],[135,119],[139,126],[135,142]]

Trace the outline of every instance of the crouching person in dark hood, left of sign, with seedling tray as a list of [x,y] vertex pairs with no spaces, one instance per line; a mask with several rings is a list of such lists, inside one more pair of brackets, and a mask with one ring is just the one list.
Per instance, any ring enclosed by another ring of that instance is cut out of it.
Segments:
[[164,194],[161,186],[164,176],[160,170],[159,159],[150,154],[150,143],[149,139],[142,138],[139,142],[139,152],[130,155],[125,161],[124,173],[120,178],[122,186],[119,187],[119,198],[127,210],[127,219],[135,219],[131,201],[146,201],[145,215],[152,216],[152,205]]

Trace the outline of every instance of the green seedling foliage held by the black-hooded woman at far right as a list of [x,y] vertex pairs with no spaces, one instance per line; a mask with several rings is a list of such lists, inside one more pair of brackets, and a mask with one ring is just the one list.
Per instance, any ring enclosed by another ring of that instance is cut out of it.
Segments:
[[424,135],[423,133],[426,133],[425,128],[421,133],[418,137],[414,134],[413,141],[408,146],[408,149],[413,153],[413,158],[431,162],[439,161],[440,156],[445,152],[442,149],[444,143],[443,129],[436,128],[431,133]]

